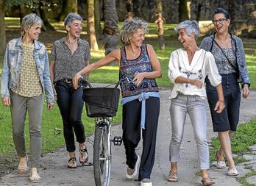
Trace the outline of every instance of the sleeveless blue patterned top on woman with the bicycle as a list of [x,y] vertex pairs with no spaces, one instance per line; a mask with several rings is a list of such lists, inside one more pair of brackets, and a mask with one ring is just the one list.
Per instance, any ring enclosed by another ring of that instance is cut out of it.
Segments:
[[[135,60],[127,60],[126,50],[121,47],[121,66],[119,70],[119,79],[133,79],[136,72],[152,72],[152,65],[149,60],[149,54],[146,45],[141,46],[141,54]],[[143,79],[140,85],[135,85],[127,81],[120,83],[123,97],[134,96],[142,92],[158,92],[155,79]]]

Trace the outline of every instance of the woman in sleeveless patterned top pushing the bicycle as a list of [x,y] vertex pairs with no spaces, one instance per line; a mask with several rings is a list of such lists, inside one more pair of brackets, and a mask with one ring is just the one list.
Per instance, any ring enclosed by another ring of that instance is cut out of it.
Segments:
[[120,83],[123,97],[123,141],[128,165],[126,175],[128,179],[133,179],[138,173],[140,157],[135,153],[135,148],[141,140],[142,129],[143,151],[138,174],[138,181],[142,186],[152,185],[150,175],[154,165],[160,109],[155,79],[162,76],[160,62],[153,47],[143,44],[147,32],[147,24],[141,18],[124,21],[120,32],[124,46],[86,66],[73,77],[73,85],[78,88],[78,80],[83,74],[117,61],[120,68],[119,79],[130,79]]

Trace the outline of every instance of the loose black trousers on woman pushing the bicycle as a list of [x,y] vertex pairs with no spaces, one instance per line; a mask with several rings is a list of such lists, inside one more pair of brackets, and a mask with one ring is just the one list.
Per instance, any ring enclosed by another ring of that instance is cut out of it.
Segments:
[[[154,165],[160,99],[146,99],[145,129],[142,130],[143,150],[138,180],[150,179]],[[138,99],[123,105],[123,141],[127,165],[134,168],[137,160],[135,148],[141,140],[141,102]]]

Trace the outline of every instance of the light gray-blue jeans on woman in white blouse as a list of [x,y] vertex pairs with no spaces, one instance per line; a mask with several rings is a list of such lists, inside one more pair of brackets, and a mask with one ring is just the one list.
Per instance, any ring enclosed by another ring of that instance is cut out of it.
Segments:
[[179,150],[182,143],[186,115],[191,118],[193,134],[196,140],[197,154],[200,169],[205,170],[210,167],[209,148],[206,137],[207,116],[205,100],[199,96],[187,96],[178,93],[178,96],[171,99],[171,143],[169,155],[171,162],[179,160]]

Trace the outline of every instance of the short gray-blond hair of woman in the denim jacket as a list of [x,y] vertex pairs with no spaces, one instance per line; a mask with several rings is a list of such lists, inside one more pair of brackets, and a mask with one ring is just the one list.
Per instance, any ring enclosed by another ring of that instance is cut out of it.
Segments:
[[43,21],[40,17],[38,17],[38,15],[35,15],[35,13],[30,13],[28,15],[25,15],[21,22],[21,35],[24,36],[25,33],[34,24],[39,24],[40,26],[42,26]]

